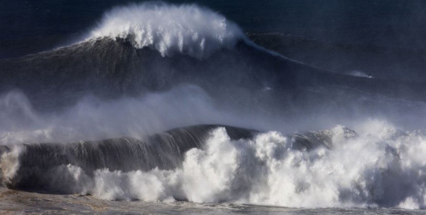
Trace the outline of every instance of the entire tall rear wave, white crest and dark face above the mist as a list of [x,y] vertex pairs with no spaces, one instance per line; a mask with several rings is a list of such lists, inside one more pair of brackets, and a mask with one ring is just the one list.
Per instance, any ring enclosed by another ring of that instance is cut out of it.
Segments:
[[324,100],[347,103],[347,97],[353,103],[426,98],[423,83],[311,67],[254,45],[238,26],[209,9],[164,3],[113,9],[86,41],[3,59],[0,72],[1,93],[20,90],[44,112],[71,106],[87,94],[110,99],[183,83],[199,85],[227,103],[236,98],[239,106],[263,103],[260,109],[268,111],[268,106],[292,109]]

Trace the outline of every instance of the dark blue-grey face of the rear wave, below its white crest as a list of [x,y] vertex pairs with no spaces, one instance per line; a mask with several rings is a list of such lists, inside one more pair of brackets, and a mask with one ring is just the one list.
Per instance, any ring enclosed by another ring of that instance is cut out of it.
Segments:
[[162,57],[149,48],[134,48],[125,39],[104,38],[2,60],[0,69],[4,77],[0,80],[0,92],[19,89],[36,109],[44,111],[72,105],[87,94],[117,98],[162,92],[182,83],[197,84],[214,97],[232,92],[230,89],[244,89],[262,97],[262,89],[273,89],[267,96],[292,100],[300,95],[297,100],[313,99],[315,103],[317,96],[312,96],[312,91],[325,89],[323,97],[340,90],[370,94],[368,97],[382,95],[420,101],[426,98],[422,83],[334,74],[270,55],[244,41],[238,42],[233,50],[217,51],[199,60],[181,54]]

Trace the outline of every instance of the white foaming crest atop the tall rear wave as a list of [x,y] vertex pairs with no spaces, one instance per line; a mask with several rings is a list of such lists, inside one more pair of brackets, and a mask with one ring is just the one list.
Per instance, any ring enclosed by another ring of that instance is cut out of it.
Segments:
[[183,53],[203,58],[235,46],[241,29],[224,16],[197,5],[145,3],[107,12],[90,39],[123,38],[137,48],[149,47],[163,56]]

